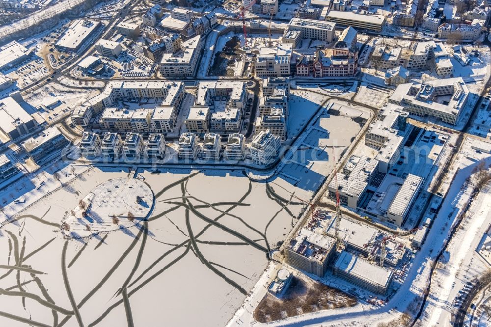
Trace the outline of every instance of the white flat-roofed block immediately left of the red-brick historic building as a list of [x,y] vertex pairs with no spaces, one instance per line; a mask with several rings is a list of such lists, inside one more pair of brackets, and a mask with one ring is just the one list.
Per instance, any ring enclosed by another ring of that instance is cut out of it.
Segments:
[[277,47],[262,47],[254,62],[256,76],[281,77],[290,75],[293,45],[279,44]]

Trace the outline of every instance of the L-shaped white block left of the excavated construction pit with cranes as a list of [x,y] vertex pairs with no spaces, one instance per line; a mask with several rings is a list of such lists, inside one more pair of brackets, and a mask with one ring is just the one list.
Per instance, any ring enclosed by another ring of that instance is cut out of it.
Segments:
[[201,36],[195,36],[181,43],[181,51],[163,54],[159,71],[164,77],[192,77],[196,71],[199,55],[203,50]]

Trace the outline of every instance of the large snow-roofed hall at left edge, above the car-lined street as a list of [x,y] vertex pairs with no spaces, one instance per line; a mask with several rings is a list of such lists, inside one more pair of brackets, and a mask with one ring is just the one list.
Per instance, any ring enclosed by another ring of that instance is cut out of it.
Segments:
[[10,140],[32,132],[36,120],[12,97],[0,99],[0,131]]

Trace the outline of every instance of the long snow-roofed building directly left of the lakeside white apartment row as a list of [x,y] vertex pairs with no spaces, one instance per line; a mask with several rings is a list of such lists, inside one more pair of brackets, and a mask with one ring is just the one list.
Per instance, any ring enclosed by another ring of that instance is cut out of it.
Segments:
[[21,142],[24,151],[38,165],[51,159],[53,154],[61,151],[68,144],[68,140],[56,126],[48,127],[38,135]]

